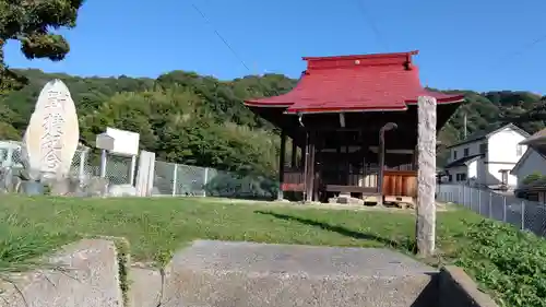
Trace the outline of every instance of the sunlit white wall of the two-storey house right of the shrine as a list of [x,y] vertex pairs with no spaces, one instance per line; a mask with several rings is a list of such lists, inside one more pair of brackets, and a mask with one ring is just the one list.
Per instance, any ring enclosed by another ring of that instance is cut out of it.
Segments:
[[[499,185],[502,180],[501,169],[512,169],[518,161],[523,156],[527,146],[521,146],[521,154],[518,154],[518,144],[525,140],[526,137],[507,127],[501,131],[488,138],[487,149],[487,170],[483,184]],[[508,174],[508,185],[515,187],[518,178],[514,175]]]

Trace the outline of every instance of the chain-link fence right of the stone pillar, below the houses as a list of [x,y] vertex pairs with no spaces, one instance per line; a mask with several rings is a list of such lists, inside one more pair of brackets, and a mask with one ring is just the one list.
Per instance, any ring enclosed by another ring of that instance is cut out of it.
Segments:
[[546,205],[464,185],[438,185],[437,199],[464,205],[484,216],[510,223],[536,235],[546,235]]

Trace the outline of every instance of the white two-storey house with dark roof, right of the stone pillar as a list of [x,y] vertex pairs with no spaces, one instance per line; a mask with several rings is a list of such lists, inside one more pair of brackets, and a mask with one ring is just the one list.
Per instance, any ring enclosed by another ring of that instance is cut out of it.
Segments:
[[518,178],[510,173],[526,151],[520,144],[529,133],[508,123],[471,134],[449,146],[450,157],[446,172],[448,181],[475,186],[514,188]]

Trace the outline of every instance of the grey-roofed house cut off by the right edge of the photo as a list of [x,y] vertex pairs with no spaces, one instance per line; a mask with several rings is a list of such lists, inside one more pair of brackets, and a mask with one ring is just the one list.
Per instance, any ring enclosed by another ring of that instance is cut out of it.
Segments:
[[543,129],[521,142],[527,146],[525,154],[510,174],[518,178],[518,188],[525,186],[524,179],[532,174],[546,176],[546,129]]

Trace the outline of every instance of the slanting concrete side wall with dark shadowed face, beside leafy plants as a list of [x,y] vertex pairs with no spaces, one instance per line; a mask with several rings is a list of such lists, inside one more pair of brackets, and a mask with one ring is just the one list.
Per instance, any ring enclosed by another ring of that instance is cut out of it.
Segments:
[[498,307],[461,268],[442,268],[437,281],[440,307]]

